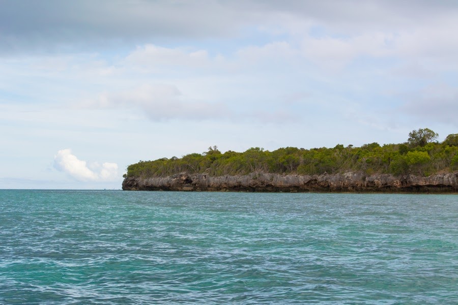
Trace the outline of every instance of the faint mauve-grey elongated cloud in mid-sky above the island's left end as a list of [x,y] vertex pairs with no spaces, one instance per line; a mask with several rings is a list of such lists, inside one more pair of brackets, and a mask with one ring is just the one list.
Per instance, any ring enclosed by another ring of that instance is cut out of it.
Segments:
[[299,119],[296,113],[291,113],[291,103],[272,104],[268,107],[270,109],[266,108],[266,103],[262,106],[256,106],[253,103],[251,107],[248,104],[234,103],[232,109],[228,107],[228,103],[194,101],[184,96],[174,85],[157,84],[142,85],[123,92],[102,93],[97,99],[79,103],[77,107],[83,109],[136,108],[144,112],[152,121],[224,119],[236,122],[249,120],[284,124]]

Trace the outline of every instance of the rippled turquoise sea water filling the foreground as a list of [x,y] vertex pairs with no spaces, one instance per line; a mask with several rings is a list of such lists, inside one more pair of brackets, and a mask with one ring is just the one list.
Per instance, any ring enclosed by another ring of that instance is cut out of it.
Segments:
[[0,190],[1,304],[458,303],[458,196]]

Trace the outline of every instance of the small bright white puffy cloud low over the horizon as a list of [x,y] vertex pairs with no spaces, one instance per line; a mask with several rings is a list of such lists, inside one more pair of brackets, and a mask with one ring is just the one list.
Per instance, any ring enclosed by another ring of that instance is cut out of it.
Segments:
[[86,161],[72,155],[71,149],[61,149],[54,156],[54,168],[67,173],[79,181],[112,181],[118,177],[118,164],[93,163],[89,168]]

